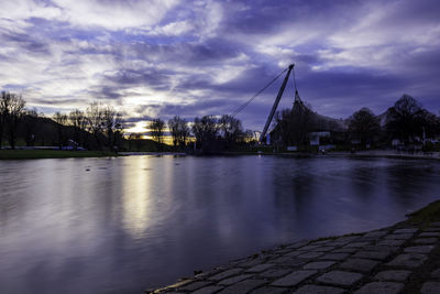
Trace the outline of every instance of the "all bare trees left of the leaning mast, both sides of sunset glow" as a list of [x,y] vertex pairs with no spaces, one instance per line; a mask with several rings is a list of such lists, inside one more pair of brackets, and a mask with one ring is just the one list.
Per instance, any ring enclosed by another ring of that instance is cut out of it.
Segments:
[[[55,112],[51,117],[36,109],[25,108],[21,96],[1,92],[0,99],[0,146],[7,139],[11,149],[16,146],[18,134],[26,146],[56,145],[59,149],[85,148],[89,150],[132,150],[132,142],[142,144],[141,134],[123,137],[122,115],[113,107],[91,102],[85,111],[74,109],[68,113]],[[156,151],[167,149],[164,138],[170,137],[175,151],[217,153],[233,150],[253,139],[251,130],[243,130],[239,119],[231,116],[205,116],[194,122],[175,116],[167,122],[157,118],[146,128]],[[128,146],[124,144],[128,141]],[[150,145],[151,146],[151,145]]]

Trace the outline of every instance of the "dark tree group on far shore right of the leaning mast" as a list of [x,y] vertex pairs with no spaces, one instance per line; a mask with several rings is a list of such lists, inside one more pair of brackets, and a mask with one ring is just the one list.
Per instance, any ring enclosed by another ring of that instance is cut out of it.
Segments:
[[424,144],[432,146],[440,138],[440,117],[429,112],[413,97],[404,95],[381,116],[367,108],[355,111],[346,120],[326,119],[301,102],[276,115],[274,141],[283,145],[308,145],[314,132],[329,131],[323,143],[360,148]]

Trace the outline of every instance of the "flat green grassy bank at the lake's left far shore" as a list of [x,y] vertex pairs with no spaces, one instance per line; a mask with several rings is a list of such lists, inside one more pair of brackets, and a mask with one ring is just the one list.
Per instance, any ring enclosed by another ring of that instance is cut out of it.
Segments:
[[73,150],[0,150],[0,160],[37,160],[120,156],[114,152]]

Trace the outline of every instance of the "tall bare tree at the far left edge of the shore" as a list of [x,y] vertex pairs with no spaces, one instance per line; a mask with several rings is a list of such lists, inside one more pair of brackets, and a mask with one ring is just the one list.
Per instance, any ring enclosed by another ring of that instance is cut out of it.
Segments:
[[0,113],[2,126],[4,124],[7,128],[9,144],[12,149],[15,149],[16,127],[24,113],[24,105],[25,102],[20,96],[6,91],[1,94]]

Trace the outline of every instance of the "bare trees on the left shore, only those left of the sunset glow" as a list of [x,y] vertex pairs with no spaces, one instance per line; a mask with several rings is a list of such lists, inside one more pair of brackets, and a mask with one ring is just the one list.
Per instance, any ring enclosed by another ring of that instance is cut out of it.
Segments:
[[122,143],[122,115],[111,106],[91,102],[85,111],[55,112],[51,118],[36,109],[26,109],[21,96],[2,91],[0,98],[0,146],[3,138],[11,149],[18,133],[26,146],[55,144],[59,149],[84,146],[92,150],[116,150]]

